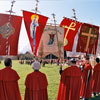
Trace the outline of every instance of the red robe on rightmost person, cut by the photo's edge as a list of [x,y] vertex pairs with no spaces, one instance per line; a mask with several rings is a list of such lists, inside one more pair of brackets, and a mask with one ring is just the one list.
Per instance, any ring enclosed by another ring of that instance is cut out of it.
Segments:
[[93,83],[93,92],[100,92],[100,64],[94,66]]

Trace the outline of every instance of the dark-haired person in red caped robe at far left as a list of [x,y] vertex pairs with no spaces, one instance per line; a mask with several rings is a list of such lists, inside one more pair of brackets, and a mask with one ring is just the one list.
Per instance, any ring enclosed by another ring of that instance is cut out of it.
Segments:
[[4,64],[6,67],[1,70],[0,100],[22,100],[18,87],[19,75],[12,69],[12,60],[6,58]]

